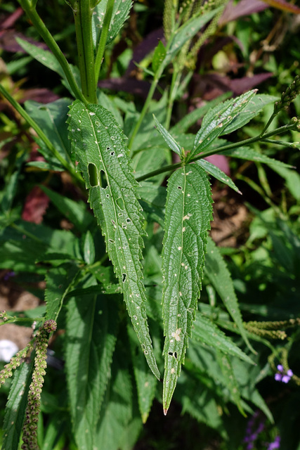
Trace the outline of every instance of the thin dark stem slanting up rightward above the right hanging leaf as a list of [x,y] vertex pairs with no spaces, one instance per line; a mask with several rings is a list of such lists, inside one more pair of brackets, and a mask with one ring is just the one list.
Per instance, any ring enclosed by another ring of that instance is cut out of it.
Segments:
[[[280,127],[278,129],[275,129],[274,131],[270,131],[269,133],[265,134],[263,137],[261,135],[256,136],[254,138],[244,139],[244,141],[235,142],[227,144],[226,146],[221,146],[218,148],[212,148],[211,150],[208,150],[207,152],[201,153],[200,155],[194,156],[194,158],[191,158],[190,160],[184,162],[177,162],[176,164],[167,165],[164,167],[161,167],[160,169],[153,170],[152,172],[148,172],[148,174],[138,176],[136,181],[144,181],[148,178],[152,178],[152,176],[156,176],[159,174],[163,174],[164,172],[171,172],[173,170],[178,169],[179,167],[182,167],[183,165],[190,164],[191,162],[195,162],[197,160],[202,160],[203,158],[206,158],[210,155],[215,155],[216,153],[225,152],[226,150],[233,150],[234,148],[238,148],[244,145],[249,145],[250,143],[254,143],[257,141],[264,141],[266,138],[270,136],[274,136],[275,134],[282,134],[285,133],[285,131],[289,129],[294,129],[294,124],[284,125],[283,127]],[[284,143],[286,146],[287,143]]]

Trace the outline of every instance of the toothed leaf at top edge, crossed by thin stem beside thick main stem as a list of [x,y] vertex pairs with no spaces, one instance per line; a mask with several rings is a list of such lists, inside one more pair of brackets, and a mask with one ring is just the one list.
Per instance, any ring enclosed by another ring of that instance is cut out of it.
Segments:
[[[110,28],[107,35],[106,46],[115,39],[115,37],[123,27],[124,22],[129,18],[129,12],[131,10],[132,4],[132,0],[115,0],[114,9],[112,11],[112,18],[110,20]],[[107,0],[101,0],[93,11],[92,31],[93,45],[95,47],[100,39],[100,33],[103,27],[103,19],[105,16],[106,7]]]

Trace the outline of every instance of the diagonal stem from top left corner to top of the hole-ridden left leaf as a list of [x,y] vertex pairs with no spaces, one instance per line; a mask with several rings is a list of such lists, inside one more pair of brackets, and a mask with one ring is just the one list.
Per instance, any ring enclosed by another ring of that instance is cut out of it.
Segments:
[[82,102],[86,103],[86,98],[84,98],[77,85],[77,82],[74,79],[74,75],[72,74],[69,63],[67,62],[63,52],[60,50],[58,44],[56,44],[56,41],[53,39],[51,33],[48,31],[48,28],[44,24],[43,20],[41,20],[41,18],[39,17],[39,14],[37,13],[35,7],[33,7],[28,0],[18,0],[18,2],[32,22],[32,25],[34,25],[34,28],[37,30],[37,32],[39,32],[49,49],[53,52],[53,55],[58,60],[58,63],[60,63],[60,67],[63,69],[67,82],[70,84],[74,96]]

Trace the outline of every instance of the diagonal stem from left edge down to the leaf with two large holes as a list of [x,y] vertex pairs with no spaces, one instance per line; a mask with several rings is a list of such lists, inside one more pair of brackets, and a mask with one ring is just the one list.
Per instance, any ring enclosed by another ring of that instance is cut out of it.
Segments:
[[26,113],[26,111],[22,108],[21,105],[19,105],[19,103],[17,101],[15,101],[15,99],[11,96],[11,94],[8,94],[8,91],[6,91],[6,89],[4,88],[4,86],[2,86],[0,84],[0,94],[2,94],[4,96],[4,98],[6,98],[6,100],[9,101],[9,103],[11,103],[11,105],[13,106],[13,108],[15,108],[15,110],[18,111],[18,113],[23,117],[23,119],[26,120],[26,122],[30,125],[30,127],[32,127],[34,129],[34,131],[36,131],[37,135],[39,136],[39,138],[41,139],[41,141],[44,142],[44,144],[48,147],[48,149],[51,151],[51,153],[53,154],[53,156],[55,156],[58,161],[60,162],[60,164],[65,167],[65,169],[70,172],[70,174],[74,177],[74,179],[76,179],[77,181],[79,181],[82,184],[82,178],[81,175],[79,175],[76,170],[74,169],[74,167],[72,165],[70,165],[64,158],[62,155],[60,155],[60,153],[58,152],[58,150],[56,150],[55,146],[53,146],[53,143],[51,143],[51,141],[49,141],[49,139],[47,138],[46,134],[44,134],[44,131],[42,131],[41,128],[39,128],[39,125],[34,122],[34,120],[32,119],[32,117],[30,117],[30,115],[28,115]]

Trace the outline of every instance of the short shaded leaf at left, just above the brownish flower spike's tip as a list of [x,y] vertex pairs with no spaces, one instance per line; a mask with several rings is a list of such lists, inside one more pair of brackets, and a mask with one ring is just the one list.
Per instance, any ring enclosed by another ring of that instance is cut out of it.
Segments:
[[57,321],[65,296],[72,288],[72,284],[79,268],[75,264],[65,264],[48,271],[46,275],[46,320]]

